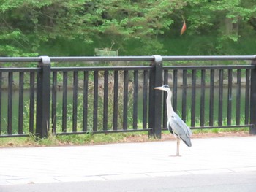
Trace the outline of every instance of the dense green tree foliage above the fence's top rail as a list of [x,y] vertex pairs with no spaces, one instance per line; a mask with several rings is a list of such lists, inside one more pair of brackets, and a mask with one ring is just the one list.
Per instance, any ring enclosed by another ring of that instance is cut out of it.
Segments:
[[0,56],[256,53],[255,0],[0,0],[0,15]]

